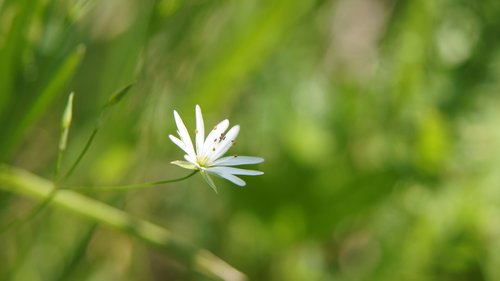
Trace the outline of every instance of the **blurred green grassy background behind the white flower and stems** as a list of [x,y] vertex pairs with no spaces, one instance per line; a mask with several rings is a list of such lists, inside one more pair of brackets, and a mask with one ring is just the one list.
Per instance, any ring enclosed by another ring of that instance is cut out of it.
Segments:
[[[262,156],[239,188],[196,175],[93,194],[250,280],[500,280],[497,0],[0,0],[1,162],[64,184],[187,172],[172,111],[240,124]],[[0,193],[0,222],[39,203]],[[0,280],[206,280],[126,235],[47,207],[2,233]]]

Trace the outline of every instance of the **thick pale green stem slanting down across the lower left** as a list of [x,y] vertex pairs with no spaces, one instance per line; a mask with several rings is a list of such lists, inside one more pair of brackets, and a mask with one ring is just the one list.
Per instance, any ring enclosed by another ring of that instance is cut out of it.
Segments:
[[[17,168],[0,165],[0,188],[38,201],[51,196],[52,182]],[[71,190],[57,190],[50,204],[87,220],[135,237],[176,257],[180,262],[206,276],[222,280],[246,280],[246,276],[217,256],[200,249],[167,229],[134,218],[126,212]]]

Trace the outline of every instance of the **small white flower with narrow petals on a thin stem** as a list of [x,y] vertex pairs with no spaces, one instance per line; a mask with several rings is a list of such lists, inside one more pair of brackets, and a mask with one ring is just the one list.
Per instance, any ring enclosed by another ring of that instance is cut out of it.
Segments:
[[205,126],[203,124],[201,109],[196,105],[195,150],[186,126],[184,126],[181,117],[175,110],[174,119],[180,139],[172,135],[169,135],[169,137],[173,143],[186,153],[184,155],[186,161],[173,161],[172,164],[190,170],[199,170],[203,178],[215,192],[217,192],[217,187],[210,178],[210,175],[216,175],[239,186],[244,186],[246,183],[236,175],[257,176],[264,174],[261,171],[231,167],[261,163],[264,162],[263,158],[236,155],[222,157],[234,144],[240,131],[240,126],[235,125],[225,133],[229,127],[229,121],[225,119],[217,124],[205,139]]

